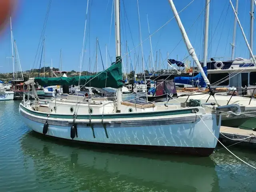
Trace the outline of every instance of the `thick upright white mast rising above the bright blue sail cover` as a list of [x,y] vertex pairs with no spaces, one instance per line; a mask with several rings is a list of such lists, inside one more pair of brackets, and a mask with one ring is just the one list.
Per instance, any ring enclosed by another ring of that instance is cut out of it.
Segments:
[[210,0],[206,0],[205,23],[204,23],[204,64],[203,64],[203,67],[207,66],[209,8],[210,8]]

